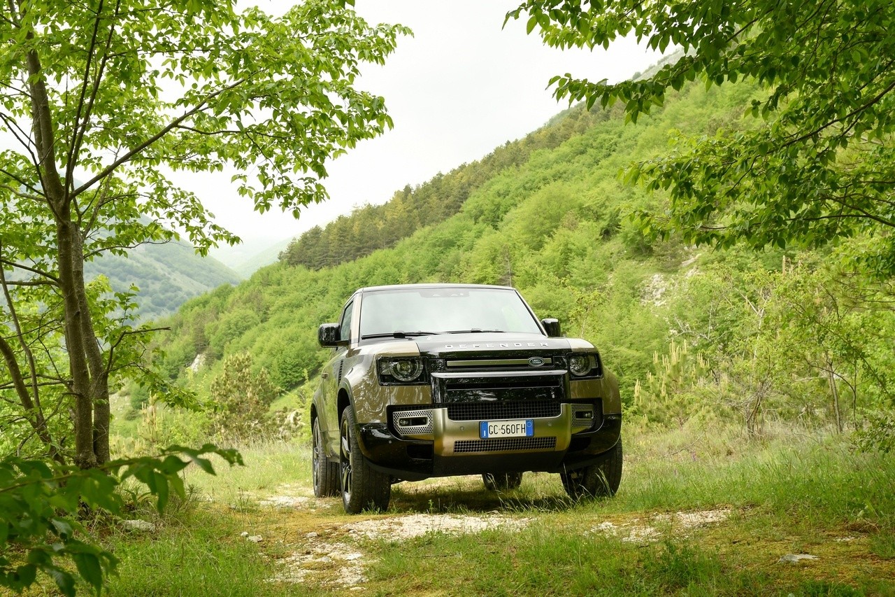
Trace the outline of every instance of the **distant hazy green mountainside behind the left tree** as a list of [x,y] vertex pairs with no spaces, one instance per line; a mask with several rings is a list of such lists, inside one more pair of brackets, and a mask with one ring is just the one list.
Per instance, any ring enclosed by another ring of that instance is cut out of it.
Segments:
[[225,264],[178,242],[143,245],[127,256],[103,255],[85,264],[84,273],[89,279],[106,276],[115,292],[136,286],[144,321],[170,315],[187,299],[240,280]]

